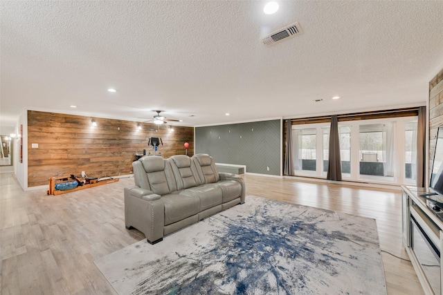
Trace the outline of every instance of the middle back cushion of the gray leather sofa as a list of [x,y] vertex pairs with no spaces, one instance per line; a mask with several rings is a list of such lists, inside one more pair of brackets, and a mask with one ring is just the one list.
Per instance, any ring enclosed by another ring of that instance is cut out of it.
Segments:
[[201,184],[195,163],[187,155],[173,155],[168,159],[174,173],[177,189],[188,189]]

